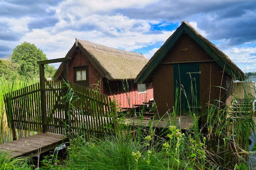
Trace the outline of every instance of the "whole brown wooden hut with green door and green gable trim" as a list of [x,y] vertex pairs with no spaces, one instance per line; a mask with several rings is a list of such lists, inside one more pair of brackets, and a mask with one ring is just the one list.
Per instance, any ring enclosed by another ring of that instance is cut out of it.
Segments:
[[230,105],[233,81],[237,79],[245,79],[243,71],[189,23],[182,22],[135,83],[153,82],[160,117],[172,113],[173,108],[178,115],[197,110],[202,116],[214,100]]

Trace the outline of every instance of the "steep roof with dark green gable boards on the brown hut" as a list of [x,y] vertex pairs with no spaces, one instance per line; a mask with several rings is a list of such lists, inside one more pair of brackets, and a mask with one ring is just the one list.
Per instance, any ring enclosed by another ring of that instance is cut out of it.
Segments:
[[246,76],[243,71],[237,67],[237,65],[230,60],[230,58],[224,54],[220,49],[218,49],[213,43],[204,38],[201,34],[198,33],[188,22],[183,21],[180,27],[166,40],[164,45],[160,47],[153,57],[148,61],[148,63],[143,67],[141,72],[135,78],[135,83],[145,83],[152,81],[150,75],[153,73],[157,65],[162,61],[166,56],[168,51],[171,50],[175,42],[180,38],[182,32],[186,32],[195,42],[204,49],[204,51],[213,58],[222,67],[222,69],[227,72],[227,74],[232,77],[234,80],[245,80]]

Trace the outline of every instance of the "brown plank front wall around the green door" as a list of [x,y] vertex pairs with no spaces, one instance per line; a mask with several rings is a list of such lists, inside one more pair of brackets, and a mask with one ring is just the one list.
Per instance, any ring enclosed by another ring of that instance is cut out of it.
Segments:
[[[162,62],[153,72],[154,99],[160,116],[168,110],[173,112],[175,102],[173,65],[177,63],[199,63],[200,71],[200,104],[201,112],[207,109],[209,100],[226,98],[224,89],[215,86],[226,87],[227,74],[189,35],[183,33],[175,45],[168,51]],[[225,99],[222,101],[225,103]]]

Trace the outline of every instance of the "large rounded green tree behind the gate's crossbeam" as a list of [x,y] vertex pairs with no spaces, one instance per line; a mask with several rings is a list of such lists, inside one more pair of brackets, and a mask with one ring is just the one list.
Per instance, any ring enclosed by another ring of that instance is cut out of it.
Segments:
[[39,66],[36,62],[47,60],[47,57],[43,54],[43,51],[37,48],[34,44],[23,42],[13,49],[11,60],[13,63],[18,64],[20,75],[35,76],[35,74],[38,75],[39,73]]

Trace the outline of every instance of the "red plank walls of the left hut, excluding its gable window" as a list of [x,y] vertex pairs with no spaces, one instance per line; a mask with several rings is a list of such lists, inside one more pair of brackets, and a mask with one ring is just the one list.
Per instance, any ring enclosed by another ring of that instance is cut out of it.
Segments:
[[[153,98],[153,85],[147,84],[147,92],[139,93],[137,91],[137,84],[133,81],[127,81],[126,90],[123,86],[124,81],[107,81],[106,78],[101,77],[101,74],[88,60],[87,54],[84,54],[79,49],[76,49],[72,54],[72,60],[69,63],[69,81],[74,82],[73,67],[88,65],[89,70],[89,86],[91,89],[98,89],[99,92],[110,96],[112,100],[117,101],[118,107],[132,108],[134,104],[141,104]],[[99,84],[96,87],[96,84]]]

